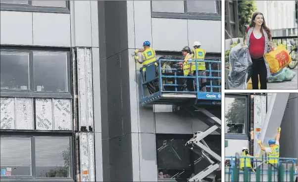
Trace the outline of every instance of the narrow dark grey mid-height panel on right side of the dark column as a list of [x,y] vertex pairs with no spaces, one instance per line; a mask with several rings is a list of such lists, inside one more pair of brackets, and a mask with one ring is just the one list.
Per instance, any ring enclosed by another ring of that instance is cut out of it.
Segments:
[[[121,104],[122,104],[122,121],[123,134],[131,133],[131,108],[130,108],[130,82],[129,82],[129,50],[120,53],[121,60]],[[135,109],[135,108],[134,108]]]

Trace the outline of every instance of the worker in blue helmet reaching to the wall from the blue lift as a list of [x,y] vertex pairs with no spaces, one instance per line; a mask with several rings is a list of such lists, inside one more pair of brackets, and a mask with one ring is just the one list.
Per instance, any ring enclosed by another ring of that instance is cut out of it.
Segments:
[[[142,54],[142,60],[140,60],[140,57],[137,55],[139,52],[141,52]],[[149,41],[145,41],[143,43],[143,49],[135,50],[135,53],[136,53],[135,60],[137,60],[138,63],[143,64],[143,67],[147,66],[149,63],[156,60],[155,50],[153,48],[150,48]],[[155,66],[157,66],[157,63],[155,63]],[[146,80],[146,67],[143,68],[143,73],[144,72],[145,72],[145,80]],[[156,92],[154,81],[150,81],[146,85],[150,94],[153,94]]]

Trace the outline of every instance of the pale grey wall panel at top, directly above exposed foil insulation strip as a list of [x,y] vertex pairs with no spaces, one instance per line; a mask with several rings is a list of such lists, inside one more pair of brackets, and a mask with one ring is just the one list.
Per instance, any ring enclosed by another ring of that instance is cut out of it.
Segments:
[[[75,45],[73,46],[92,46],[91,35],[91,6],[90,0],[74,1],[74,28]],[[72,12],[71,12],[72,13]]]

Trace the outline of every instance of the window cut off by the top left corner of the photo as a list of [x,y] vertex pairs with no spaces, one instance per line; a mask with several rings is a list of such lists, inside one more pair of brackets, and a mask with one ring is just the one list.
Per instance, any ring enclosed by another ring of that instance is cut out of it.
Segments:
[[68,0],[0,0],[1,10],[69,13]]

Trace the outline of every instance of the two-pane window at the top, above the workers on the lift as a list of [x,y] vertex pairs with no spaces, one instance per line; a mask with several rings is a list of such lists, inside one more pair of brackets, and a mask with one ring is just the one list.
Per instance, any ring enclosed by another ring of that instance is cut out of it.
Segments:
[[221,20],[220,0],[151,1],[152,17]]

